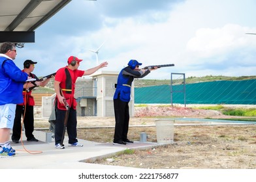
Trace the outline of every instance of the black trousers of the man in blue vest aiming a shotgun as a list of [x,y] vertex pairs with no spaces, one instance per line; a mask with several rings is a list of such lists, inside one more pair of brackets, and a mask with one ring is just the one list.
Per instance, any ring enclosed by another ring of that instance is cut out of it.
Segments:
[[121,101],[120,99],[114,99],[114,112],[115,112],[115,133],[114,141],[127,140],[127,133],[129,129],[129,102]]

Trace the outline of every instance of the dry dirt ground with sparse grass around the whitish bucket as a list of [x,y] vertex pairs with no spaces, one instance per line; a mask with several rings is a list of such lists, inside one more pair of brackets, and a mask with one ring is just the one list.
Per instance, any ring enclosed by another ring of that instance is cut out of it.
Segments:
[[[140,107],[135,110],[135,117],[130,120],[129,139],[139,141],[140,133],[146,132],[148,142],[157,142],[155,127],[152,125],[157,118],[163,117],[230,118],[215,110]],[[205,125],[195,125],[199,123]],[[40,122],[37,124],[43,126]],[[112,142],[113,126],[114,117],[78,117],[78,138],[95,142]],[[123,154],[108,158],[112,159],[111,162],[109,159],[102,159],[95,163],[155,169],[254,169],[256,168],[256,125],[223,123],[212,125],[211,122],[176,120],[173,144],[143,150],[126,150]]]

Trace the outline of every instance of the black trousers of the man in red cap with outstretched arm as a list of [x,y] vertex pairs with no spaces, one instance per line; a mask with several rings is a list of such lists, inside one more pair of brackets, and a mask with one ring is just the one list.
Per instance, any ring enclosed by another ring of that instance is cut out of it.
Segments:
[[[66,110],[57,109],[56,125],[55,125],[55,133],[54,133],[55,144],[61,143],[66,112],[67,112]],[[74,144],[75,142],[78,142],[76,138],[77,136],[76,125],[77,125],[76,110],[72,109],[71,107],[71,109],[69,110],[69,118],[67,120],[67,135],[69,136],[69,144]]]

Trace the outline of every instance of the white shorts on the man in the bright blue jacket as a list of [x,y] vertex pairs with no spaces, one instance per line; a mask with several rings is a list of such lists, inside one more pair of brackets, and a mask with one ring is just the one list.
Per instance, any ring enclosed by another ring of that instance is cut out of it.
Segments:
[[0,128],[12,129],[15,118],[16,104],[0,105]]

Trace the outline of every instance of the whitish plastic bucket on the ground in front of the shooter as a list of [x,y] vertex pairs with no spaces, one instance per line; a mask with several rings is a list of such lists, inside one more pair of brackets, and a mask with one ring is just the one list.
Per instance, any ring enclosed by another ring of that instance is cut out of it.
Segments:
[[174,142],[174,119],[155,120],[157,143],[172,144]]

